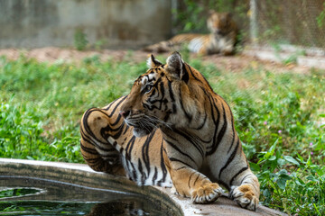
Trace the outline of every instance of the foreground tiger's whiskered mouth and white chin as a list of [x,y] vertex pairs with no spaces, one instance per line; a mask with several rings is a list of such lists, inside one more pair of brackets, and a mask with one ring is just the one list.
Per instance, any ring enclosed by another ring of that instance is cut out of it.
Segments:
[[125,118],[125,123],[134,127],[133,133],[135,137],[144,137],[157,128],[156,122],[144,114],[129,116]]

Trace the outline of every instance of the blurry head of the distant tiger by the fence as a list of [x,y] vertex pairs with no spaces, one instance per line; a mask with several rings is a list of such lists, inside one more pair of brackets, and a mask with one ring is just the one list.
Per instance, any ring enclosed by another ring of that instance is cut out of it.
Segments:
[[229,31],[233,31],[236,28],[236,24],[232,20],[232,15],[230,13],[210,11],[207,24],[209,31],[220,35],[226,35]]

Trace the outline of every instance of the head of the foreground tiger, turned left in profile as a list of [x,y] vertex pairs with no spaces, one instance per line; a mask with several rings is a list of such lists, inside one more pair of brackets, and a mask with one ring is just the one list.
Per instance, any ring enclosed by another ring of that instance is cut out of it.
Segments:
[[120,108],[126,124],[134,127],[136,137],[158,127],[186,127],[195,121],[198,112],[204,112],[201,85],[209,84],[178,52],[172,53],[166,64],[152,55],[147,66],[149,69],[135,80]]

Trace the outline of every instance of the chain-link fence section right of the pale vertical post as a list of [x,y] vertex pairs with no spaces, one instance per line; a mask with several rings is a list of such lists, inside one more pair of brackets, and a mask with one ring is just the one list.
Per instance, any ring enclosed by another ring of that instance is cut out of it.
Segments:
[[251,26],[259,44],[292,44],[325,49],[324,0],[253,0]]

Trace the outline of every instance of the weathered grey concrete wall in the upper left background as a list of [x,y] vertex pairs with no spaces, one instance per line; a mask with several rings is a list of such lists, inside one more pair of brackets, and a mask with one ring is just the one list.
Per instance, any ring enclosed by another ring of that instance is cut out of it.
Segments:
[[0,49],[89,44],[140,48],[171,36],[171,0],[0,0]]

